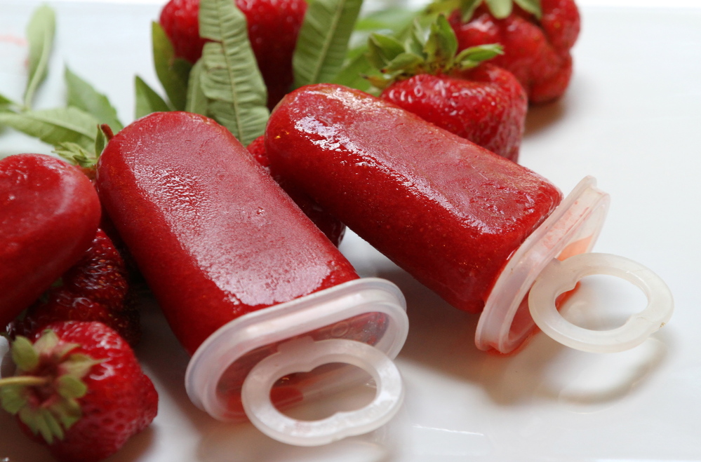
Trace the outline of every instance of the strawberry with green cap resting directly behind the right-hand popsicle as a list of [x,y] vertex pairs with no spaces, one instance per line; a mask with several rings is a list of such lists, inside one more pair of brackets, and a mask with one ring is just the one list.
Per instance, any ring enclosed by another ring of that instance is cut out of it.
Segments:
[[368,58],[382,71],[370,82],[380,97],[426,121],[517,161],[526,124],[526,93],[510,72],[485,60],[498,46],[477,46],[456,55],[458,42],[439,15],[425,42],[420,28],[406,43],[370,36]]

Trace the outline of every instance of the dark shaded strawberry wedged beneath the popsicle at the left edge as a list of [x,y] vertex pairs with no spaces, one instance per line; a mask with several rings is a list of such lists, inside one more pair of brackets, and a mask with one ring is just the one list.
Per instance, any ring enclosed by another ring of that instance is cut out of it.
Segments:
[[100,321],[129,344],[140,337],[139,312],[129,292],[124,261],[105,231],[98,229],[80,261],[25,313],[11,322],[12,336],[29,336],[51,322]]

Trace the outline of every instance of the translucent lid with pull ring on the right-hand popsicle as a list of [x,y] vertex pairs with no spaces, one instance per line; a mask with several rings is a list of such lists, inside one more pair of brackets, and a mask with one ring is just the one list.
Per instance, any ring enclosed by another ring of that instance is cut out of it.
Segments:
[[[588,253],[599,237],[609,203],[608,194],[596,188],[596,180],[585,177],[523,241],[486,301],[475,334],[478,348],[510,353],[538,325],[572,348],[622,351],[641,343],[669,320],[672,294],[655,273],[623,257]],[[557,299],[573,290],[578,280],[593,274],[609,274],[634,283],[648,297],[647,308],[611,331],[572,325],[557,311]]]

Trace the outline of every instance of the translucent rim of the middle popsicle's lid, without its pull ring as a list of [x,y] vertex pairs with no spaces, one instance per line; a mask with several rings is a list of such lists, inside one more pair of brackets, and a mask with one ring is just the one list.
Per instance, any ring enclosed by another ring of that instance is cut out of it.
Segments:
[[[248,313],[220,327],[203,342],[189,362],[185,373],[187,394],[194,405],[213,418],[227,421],[229,420],[227,409],[218,395],[218,383],[236,360],[262,346],[279,344],[287,339],[300,337],[321,327],[365,313],[384,313],[388,316],[387,330],[378,343],[372,347],[362,345],[372,348],[391,362],[401,350],[408,334],[406,301],[399,288],[389,281],[380,278],[362,278],[284,304]],[[346,342],[361,344],[350,340]],[[365,351],[363,347],[361,348],[356,351]],[[314,358],[311,359],[314,360]],[[349,362],[349,360],[340,362]],[[361,361],[361,364],[365,362]],[[279,377],[277,376],[276,379]],[[246,381],[249,378],[251,378],[250,373]],[[243,395],[242,398],[244,398]],[[398,395],[397,399],[401,402],[401,395]],[[251,414],[247,416],[254,424],[260,420]],[[374,430],[384,423],[386,421],[378,419],[375,423],[368,423],[364,428]],[[267,431],[264,428],[261,430]],[[338,428],[338,435],[344,432],[345,428]],[[312,442],[305,444],[304,441],[298,440],[294,444],[311,445]]]

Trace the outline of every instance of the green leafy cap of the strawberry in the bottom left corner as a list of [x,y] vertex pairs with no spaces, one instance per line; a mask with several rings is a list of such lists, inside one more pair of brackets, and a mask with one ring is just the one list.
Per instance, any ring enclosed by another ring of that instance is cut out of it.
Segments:
[[15,375],[0,379],[0,405],[48,444],[62,440],[81,419],[78,400],[88,391],[83,379],[102,362],[76,352],[78,348],[79,344],[61,341],[51,329],[34,344],[18,336],[11,349]]

